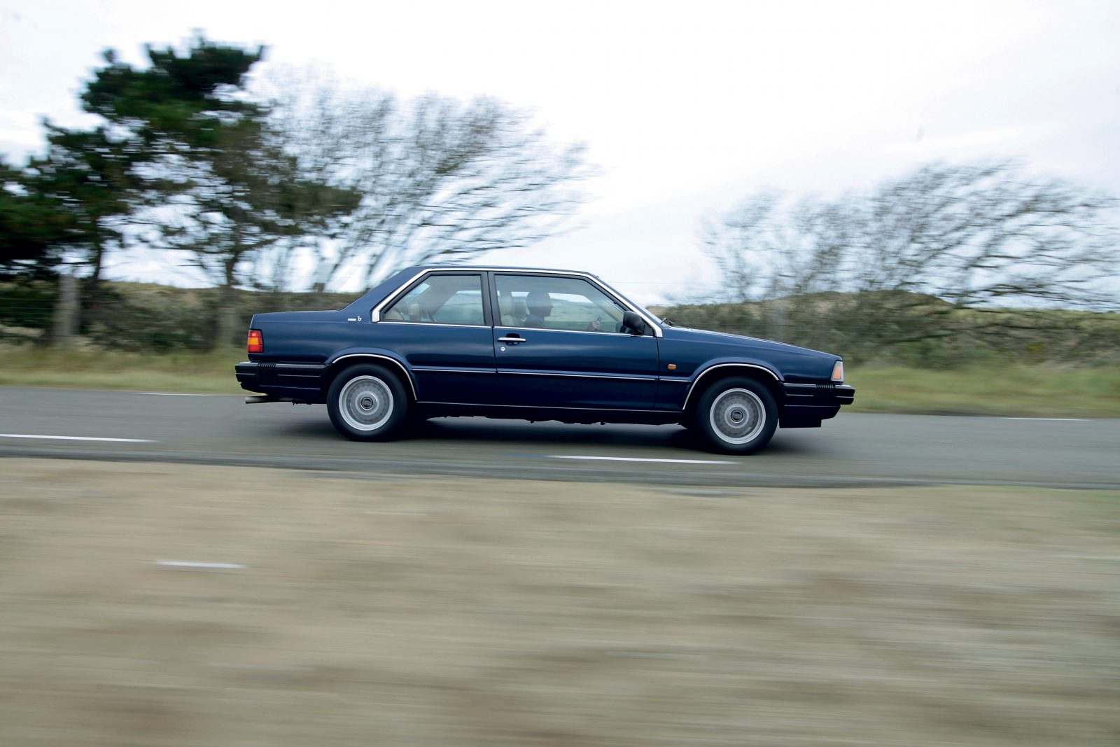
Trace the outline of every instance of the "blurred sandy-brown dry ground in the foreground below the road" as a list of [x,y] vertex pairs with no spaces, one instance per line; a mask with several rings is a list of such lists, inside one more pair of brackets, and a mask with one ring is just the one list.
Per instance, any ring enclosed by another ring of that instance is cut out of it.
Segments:
[[1112,746],[1118,520],[4,459],[0,745]]

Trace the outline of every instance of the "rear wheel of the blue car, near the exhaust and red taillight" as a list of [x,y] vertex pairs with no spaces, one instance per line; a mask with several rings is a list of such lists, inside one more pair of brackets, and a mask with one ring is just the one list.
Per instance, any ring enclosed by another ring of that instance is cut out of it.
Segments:
[[327,412],[352,441],[389,441],[402,431],[409,395],[401,380],[379,365],[346,368],[330,383]]

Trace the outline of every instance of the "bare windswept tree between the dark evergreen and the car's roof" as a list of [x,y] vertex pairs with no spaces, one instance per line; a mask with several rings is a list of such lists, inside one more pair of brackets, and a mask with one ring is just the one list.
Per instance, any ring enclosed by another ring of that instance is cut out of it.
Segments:
[[562,228],[589,176],[581,146],[551,144],[493,100],[400,102],[305,78],[274,111],[302,172],[362,196],[308,236],[316,290],[539,242]]

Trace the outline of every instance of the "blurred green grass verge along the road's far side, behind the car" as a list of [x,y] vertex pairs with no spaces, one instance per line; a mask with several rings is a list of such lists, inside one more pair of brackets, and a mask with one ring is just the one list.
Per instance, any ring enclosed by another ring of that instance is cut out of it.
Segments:
[[[60,352],[0,349],[0,385],[237,394],[233,365],[241,351],[221,353]],[[857,389],[846,412],[1120,417],[1120,367],[986,365],[959,370],[902,366],[848,371]]]

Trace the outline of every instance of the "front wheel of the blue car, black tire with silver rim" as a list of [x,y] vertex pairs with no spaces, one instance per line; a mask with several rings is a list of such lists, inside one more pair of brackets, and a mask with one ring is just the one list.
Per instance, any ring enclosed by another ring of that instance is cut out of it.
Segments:
[[754,379],[721,379],[697,402],[694,430],[719,454],[754,454],[774,437],[777,403]]

